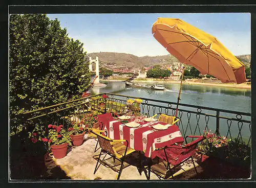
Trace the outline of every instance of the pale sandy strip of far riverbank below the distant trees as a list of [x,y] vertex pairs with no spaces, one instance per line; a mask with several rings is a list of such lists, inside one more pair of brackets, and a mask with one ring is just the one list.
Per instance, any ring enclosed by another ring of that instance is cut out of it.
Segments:
[[[103,80],[102,80],[103,81]],[[104,81],[115,81],[120,82],[124,80],[104,80]],[[147,82],[147,83],[180,83],[178,80],[160,80],[160,79],[134,79],[133,82]],[[242,84],[236,83],[222,83],[220,80],[203,80],[203,79],[187,79],[182,82],[183,84],[191,84],[191,85],[205,85],[205,86],[217,86],[217,87],[229,87],[229,88],[239,88],[239,89],[251,89],[251,83],[246,82]]]

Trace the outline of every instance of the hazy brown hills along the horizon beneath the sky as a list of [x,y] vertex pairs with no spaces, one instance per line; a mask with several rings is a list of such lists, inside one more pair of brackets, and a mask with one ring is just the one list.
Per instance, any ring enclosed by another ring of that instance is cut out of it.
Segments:
[[[105,62],[105,64],[127,68],[141,68],[143,66],[152,66],[156,64],[174,64],[175,62],[179,62],[173,55],[138,57],[132,54],[125,53],[99,52],[90,53],[87,54],[87,56],[92,57],[93,59],[98,56],[99,61]],[[237,58],[246,66],[250,65],[251,55],[241,55],[237,56]]]

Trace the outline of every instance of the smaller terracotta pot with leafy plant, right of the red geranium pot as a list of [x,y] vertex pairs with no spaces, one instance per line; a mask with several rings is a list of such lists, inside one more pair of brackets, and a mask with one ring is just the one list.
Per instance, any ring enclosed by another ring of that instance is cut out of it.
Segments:
[[88,127],[84,126],[83,119],[80,122],[75,122],[73,127],[68,129],[73,146],[81,146],[83,143],[84,134],[88,132]]

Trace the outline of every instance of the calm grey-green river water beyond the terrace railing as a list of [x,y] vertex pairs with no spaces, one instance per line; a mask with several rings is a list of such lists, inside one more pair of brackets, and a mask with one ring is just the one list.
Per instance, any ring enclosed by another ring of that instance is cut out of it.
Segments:
[[[91,90],[93,95],[96,95],[98,93],[109,92],[109,93],[115,93],[120,95],[156,99],[156,100],[169,101],[169,102],[177,102],[177,97],[178,97],[179,88],[180,88],[180,84],[177,84],[177,83],[161,83],[161,85],[164,85],[167,88],[167,90],[164,90],[164,91],[127,87],[125,86],[124,82],[101,81],[101,83],[104,83],[107,86],[93,88]],[[157,84],[157,83],[145,83],[145,82],[136,82],[136,83],[148,84],[148,85]],[[251,90],[250,89],[183,84],[180,99],[181,99],[180,103],[184,103],[184,104],[251,113]],[[248,117],[246,117],[245,119],[250,120],[250,117],[249,119]],[[215,121],[216,119],[210,120],[212,125],[216,125]],[[224,125],[220,127],[220,131],[223,131],[226,133],[228,129],[227,128],[228,123],[226,122],[226,120],[222,120],[222,121],[223,122],[221,123],[223,123]],[[193,123],[194,124],[197,123],[196,119],[194,120]],[[232,126],[230,130],[232,130],[231,134],[236,135],[239,133],[239,126],[237,122],[236,124],[232,122]],[[248,125],[243,126],[242,134],[243,134],[243,137],[247,137],[247,139],[249,138],[250,130],[248,128]]]

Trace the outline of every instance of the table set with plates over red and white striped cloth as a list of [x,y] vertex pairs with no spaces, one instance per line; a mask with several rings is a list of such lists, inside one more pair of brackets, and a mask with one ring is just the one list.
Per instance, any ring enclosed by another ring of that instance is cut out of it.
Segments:
[[151,158],[154,158],[156,148],[184,141],[176,125],[159,122],[143,114],[118,116],[103,129],[111,139],[126,139],[130,148],[144,151],[145,156]]

